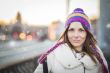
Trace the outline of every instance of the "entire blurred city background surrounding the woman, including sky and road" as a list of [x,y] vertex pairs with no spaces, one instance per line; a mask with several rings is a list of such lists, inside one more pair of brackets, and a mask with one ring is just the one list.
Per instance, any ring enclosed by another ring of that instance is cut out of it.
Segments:
[[0,73],[33,73],[75,8],[89,16],[110,69],[110,0],[0,0]]

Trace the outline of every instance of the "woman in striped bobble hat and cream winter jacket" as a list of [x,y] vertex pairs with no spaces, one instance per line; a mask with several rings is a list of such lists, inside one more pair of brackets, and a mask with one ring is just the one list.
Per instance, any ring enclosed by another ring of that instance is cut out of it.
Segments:
[[109,73],[107,62],[91,33],[90,20],[76,8],[66,21],[58,43],[39,59],[34,73],[43,73],[47,58],[48,73]]

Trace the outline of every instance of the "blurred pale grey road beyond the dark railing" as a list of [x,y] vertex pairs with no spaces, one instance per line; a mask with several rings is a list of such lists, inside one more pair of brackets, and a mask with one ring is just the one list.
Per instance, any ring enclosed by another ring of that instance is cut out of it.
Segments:
[[0,44],[0,69],[13,65],[46,51],[54,42],[9,41]]

